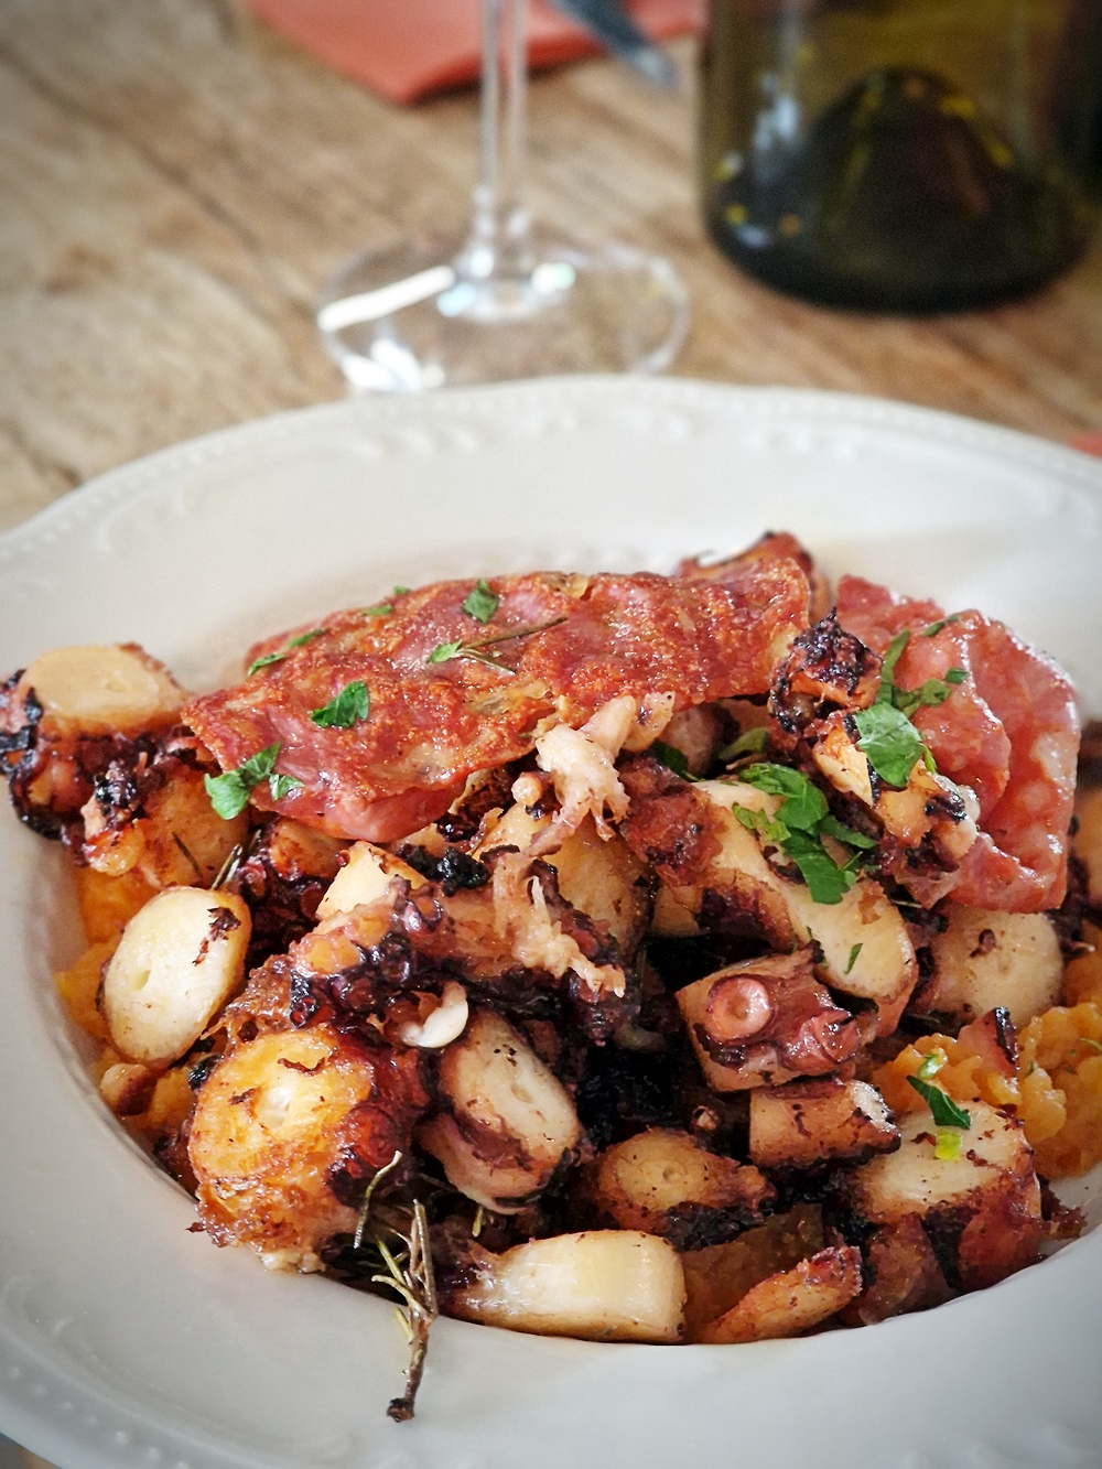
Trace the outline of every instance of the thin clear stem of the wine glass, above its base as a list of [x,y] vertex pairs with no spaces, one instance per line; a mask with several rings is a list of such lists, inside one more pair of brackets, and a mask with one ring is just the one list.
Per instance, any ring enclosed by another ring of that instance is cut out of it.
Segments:
[[529,216],[523,201],[527,115],[527,0],[482,0],[479,179],[464,273],[475,279],[523,269]]

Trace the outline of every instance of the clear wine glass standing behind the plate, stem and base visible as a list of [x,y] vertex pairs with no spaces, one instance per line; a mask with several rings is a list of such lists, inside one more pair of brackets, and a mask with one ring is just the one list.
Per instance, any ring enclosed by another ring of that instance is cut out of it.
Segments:
[[619,242],[548,237],[522,198],[527,0],[482,0],[479,178],[466,231],[369,250],[326,285],[322,339],[354,389],[658,372],[688,331],[673,267]]

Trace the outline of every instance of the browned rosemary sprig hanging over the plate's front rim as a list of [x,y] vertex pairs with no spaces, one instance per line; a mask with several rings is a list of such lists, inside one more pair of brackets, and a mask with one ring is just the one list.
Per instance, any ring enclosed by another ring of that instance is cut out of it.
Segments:
[[[429,1221],[425,1205],[420,1199],[413,1200],[408,1234],[394,1222],[373,1221],[372,1203],[381,1183],[394,1172],[401,1162],[401,1153],[395,1152],[389,1163],[385,1163],[367,1184],[367,1191],[360,1205],[356,1221],[354,1247],[359,1250],[364,1238],[379,1255],[385,1271],[370,1277],[372,1285],[381,1285],[398,1296],[398,1319],[410,1343],[410,1365],[406,1369],[406,1391],[401,1397],[391,1400],[386,1416],[397,1423],[404,1423],[413,1418],[413,1404],[425,1371],[425,1354],[429,1347],[429,1327],[436,1319],[436,1281],[432,1269],[432,1250],[429,1247]],[[388,1215],[391,1210],[388,1210]],[[391,1249],[385,1235],[392,1235],[397,1249]]]

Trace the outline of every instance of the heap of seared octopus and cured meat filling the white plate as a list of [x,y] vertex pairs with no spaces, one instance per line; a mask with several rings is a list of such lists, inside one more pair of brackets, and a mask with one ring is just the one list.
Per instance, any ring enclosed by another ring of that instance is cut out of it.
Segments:
[[1068,679],[977,611],[771,535],[395,588],[200,696],[46,652],[0,730],[100,1094],[217,1244],[417,1319],[733,1343],[1080,1228],[1102,802]]

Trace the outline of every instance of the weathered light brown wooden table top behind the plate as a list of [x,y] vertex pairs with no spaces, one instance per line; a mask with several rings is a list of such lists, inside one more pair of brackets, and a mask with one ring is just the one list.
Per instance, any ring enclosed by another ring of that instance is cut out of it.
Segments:
[[[1102,429],[1102,239],[1034,298],[936,320],[776,295],[707,241],[695,46],[661,95],[608,60],[530,88],[530,204],[667,254],[679,375],[868,392],[1067,439]],[[411,107],[235,0],[0,0],[0,527],[223,425],[341,397],[313,326],[353,250],[466,214],[473,88]]]

